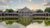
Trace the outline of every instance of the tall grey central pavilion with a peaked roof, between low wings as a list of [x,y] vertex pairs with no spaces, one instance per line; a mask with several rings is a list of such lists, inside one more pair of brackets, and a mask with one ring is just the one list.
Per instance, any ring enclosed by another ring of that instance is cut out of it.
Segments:
[[23,9],[18,10],[19,16],[32,16],[33,11],[24,7]]

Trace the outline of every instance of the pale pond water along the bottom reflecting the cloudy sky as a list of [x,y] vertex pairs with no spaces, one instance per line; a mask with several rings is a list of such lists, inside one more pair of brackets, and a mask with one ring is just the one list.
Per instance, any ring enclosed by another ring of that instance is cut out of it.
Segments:
[[50,28],[50,26],[45,26],[44,21],[41,24],[37,22],[31,23],[30,25],[27,25],[26,27],[16,22],[14,22],[11,25],[7,25],[5,22],[0,22],[0,28]]

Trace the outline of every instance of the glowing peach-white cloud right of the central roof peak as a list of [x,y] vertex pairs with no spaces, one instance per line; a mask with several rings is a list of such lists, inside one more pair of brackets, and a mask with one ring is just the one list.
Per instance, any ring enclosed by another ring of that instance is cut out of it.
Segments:
[[27,6],[30,9],[36,10],[36,9],[42,9],[44,10],[46,7],[44,6],[45,2],[41,3],[41,4],[36,4],[36,3],[32,3],[30,2],[29,4],[27,4]]

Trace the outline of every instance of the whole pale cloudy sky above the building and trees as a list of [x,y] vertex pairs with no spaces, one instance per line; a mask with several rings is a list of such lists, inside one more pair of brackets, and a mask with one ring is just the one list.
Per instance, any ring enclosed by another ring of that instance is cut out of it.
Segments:
[[44,10],[50,6],[50,0],[0,0],[0,10],[7,8],[17,10],[25,6],[32,10]]

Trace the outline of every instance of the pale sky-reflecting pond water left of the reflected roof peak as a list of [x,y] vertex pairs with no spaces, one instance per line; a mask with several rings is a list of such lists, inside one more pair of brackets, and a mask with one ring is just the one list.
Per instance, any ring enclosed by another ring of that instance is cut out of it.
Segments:
[[25,26],[15,22],[12,25],[7,25],[5,22],[0,22],[0,28],[25,28]]

